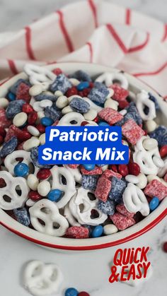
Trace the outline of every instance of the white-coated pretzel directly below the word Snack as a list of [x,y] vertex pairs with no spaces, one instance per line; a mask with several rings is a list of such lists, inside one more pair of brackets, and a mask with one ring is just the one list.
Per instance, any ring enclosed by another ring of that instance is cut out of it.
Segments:
[[[57,167],[57,165],[54,165],[50,172],[52,174],[52,189],[64,192],[62,199],[56,203],[58,208],[63,208],[76,193],[74,176],[66,167]],[[62,183],[62,177],[66,179],[67,184]]]

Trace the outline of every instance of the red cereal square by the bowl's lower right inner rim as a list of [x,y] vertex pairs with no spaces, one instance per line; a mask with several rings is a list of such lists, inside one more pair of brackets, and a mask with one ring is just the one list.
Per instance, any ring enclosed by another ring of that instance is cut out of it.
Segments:
[[125,230],[127,227],[134,225],[136,222],[133,218],[128,218],[120,213],[115,213],[110,216],[118,230]]

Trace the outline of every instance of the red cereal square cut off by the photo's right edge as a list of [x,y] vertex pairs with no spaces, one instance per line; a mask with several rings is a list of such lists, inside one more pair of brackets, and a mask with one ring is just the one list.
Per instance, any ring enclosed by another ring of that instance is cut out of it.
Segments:
[[144,189],[144,194],[150,197],[156,196],[161,201],[167,196],[167,187],[159,182],[159,180],[154,179],[146,185],[146,188]]

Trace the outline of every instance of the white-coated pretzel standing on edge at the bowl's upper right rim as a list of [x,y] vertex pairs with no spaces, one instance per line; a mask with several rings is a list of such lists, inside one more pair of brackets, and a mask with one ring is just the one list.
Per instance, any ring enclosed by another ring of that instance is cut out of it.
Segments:
[[[145,90],[137,93],[136,106],[143,120],[152,120],[156,117],[155,104],[149,100],[149,93]],[[145,107],[147,107],[147,114],[144,112]]]

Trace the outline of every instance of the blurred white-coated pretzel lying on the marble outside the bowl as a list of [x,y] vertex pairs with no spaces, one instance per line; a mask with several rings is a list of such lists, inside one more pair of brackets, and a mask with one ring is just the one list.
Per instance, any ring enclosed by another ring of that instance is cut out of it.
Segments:
[[25,288],[34,296],[51,295],[59,292],[63,281],[62,271],[56,264],[30,261],[23,273]]

